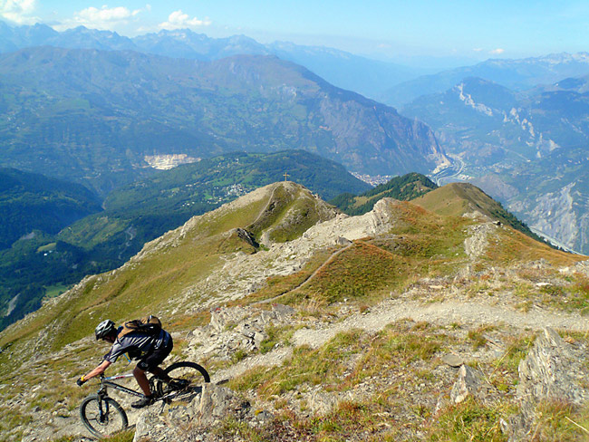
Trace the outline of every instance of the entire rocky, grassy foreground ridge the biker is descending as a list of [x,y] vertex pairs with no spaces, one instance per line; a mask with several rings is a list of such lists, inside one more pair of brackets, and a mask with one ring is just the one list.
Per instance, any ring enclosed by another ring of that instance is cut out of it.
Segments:
[[142,410],[110,391],[111,440],[584,440],[587,257],[450,190],[347,216],[281,182],[191,218],[0,333],[1,438],[89,440],[95,325],[153,313],[166,364],[211,382]]

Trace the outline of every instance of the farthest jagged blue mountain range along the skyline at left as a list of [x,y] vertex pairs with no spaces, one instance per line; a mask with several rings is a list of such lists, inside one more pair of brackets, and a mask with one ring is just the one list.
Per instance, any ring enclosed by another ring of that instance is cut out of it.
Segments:
[[131,50],[174,58],[211,61],[231,55],[276,55],[301,64],[335,86],[376,98],[391,86],[417,77],[423,70],[392,62],[379,62],[333,48],[287,42],[257,43],[245,35],[210,38],[188,29],[162,30],[137,37],[83,26],[57,33],[44,24],[11,27],[0,22],[0,53],[33,46],[99,50]]

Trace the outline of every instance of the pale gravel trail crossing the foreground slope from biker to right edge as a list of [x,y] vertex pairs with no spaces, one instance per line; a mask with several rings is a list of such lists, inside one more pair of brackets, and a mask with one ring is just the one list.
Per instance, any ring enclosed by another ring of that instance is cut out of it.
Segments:
[[[490,305],[482,302],[446,301],[443,303],[420,303],[406,299],[386,300],[370,312],[356,313],[343,322],[326,323],[324,327],[311,330],[301,329],[294,333],[294,346],[322,346],[342,331],[361,329],[381,331],[387,324],[411,319],[415,322],[431,322],[439,325],[457,323],[477,327],[479,325],[504,325],[519,330],[538,331],[545,327],[557,330],[589,332],[589,321],[576,313],[549,312],[537,307],[530,312],[517,312],[510,307]],[[227,380],[239,376],[258,365],[273,366],[282,363],[292,354],[292,348],[279,348],[266,354],[259,354],[237,363],[227,370],[220,370],[213,381]]]

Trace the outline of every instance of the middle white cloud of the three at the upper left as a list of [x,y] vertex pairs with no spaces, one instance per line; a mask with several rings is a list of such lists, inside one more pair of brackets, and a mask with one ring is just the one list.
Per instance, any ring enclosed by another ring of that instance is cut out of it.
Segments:
[[129,24],[129,22],[141,13],[141,9],[131,11],[124,6],[108,7],[102,6],[100,9],[90,6],[82,11],[73,14],[73,18],[66,20],[63,24],[53,26],[56,30],[62,31],[76,26],[86,26],[92,29],[108,29],[114,31],[119,26]]

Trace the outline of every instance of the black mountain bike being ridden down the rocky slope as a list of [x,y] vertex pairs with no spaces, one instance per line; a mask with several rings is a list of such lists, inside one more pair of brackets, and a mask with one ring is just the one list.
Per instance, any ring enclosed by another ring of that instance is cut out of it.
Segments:
[[[176,362],[164,371],[171,378],[169,382],[159,380],[156,376],[151,376],[149,379],[155,402],[169,403],[172,399],[187,398],[201,391],[204,383],[210,382],[207,370],[195,362]],[[109,437],[128,427],[127,413],[108,393],[108,389],[111,388],[142,398],[142,392],[128,389],[114,382],[128,378],[133,378],[133,375],[123,374],[109,378],[101,376],[101,388],[98,392],[82,400],[80,418],[92,435]]]

